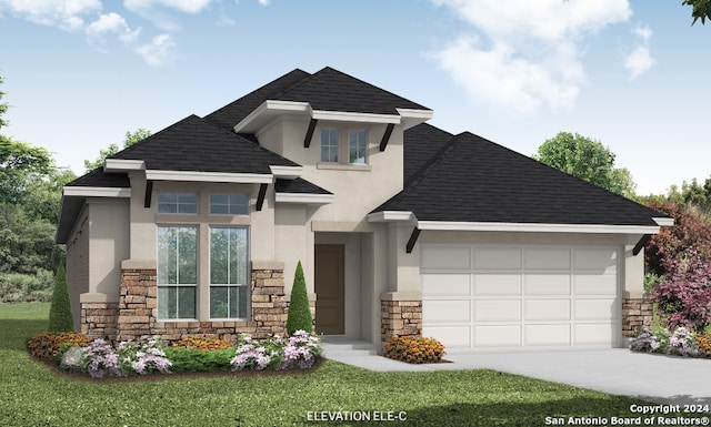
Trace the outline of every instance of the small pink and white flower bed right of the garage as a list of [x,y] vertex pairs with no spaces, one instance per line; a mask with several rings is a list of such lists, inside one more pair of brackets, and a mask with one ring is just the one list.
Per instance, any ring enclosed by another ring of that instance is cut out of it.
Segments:
[[630,349],[683,357],[702,355],[695,335],[683,326],[678,327],[673,333],[670,333],[669,329],[650,331],[644,328],[637,338],[630,342]]

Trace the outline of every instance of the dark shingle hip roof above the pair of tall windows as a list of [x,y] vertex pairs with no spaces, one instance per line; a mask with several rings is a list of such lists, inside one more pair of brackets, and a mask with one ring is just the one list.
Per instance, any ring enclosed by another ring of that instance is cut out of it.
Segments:
[[197,115],[128,148],[112,159],[142,160],[148,170],[271,174],[297,163]]

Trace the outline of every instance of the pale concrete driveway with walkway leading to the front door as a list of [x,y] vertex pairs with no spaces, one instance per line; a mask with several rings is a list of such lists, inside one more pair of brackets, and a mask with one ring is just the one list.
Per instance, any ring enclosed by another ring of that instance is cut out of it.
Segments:
[[375,354],[369,344],[324,345],[326,357],[370,370],[495,369],[663,404],[711,405],[711,360],[633,353],[627,348],[452,353],[452,363],[410,365]]

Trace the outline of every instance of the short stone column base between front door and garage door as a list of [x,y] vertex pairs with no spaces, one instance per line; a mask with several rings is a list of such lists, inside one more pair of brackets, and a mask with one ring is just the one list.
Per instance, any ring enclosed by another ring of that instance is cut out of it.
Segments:
[[388,292],[380,296],[380,339],[422,335],[422,294]]

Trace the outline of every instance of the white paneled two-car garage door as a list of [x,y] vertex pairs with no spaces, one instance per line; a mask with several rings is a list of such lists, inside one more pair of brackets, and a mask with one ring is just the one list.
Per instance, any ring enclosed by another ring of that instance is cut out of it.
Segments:
[[613,246],[422,244],[422,335],[447,347],[617,347]]

